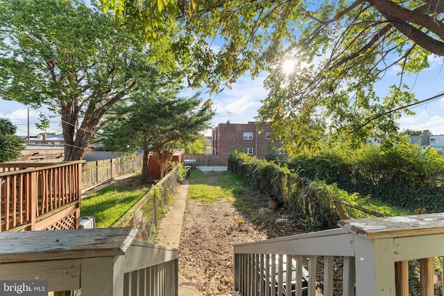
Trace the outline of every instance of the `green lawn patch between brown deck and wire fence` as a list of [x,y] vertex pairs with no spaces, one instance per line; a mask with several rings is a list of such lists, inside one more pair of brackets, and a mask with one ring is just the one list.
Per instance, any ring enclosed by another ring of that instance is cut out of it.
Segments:
[[127,191],[124,186],[110,186],[82,198],[81,216],[94,216],[96,227],[111,227],[148,191],[148,187]]

